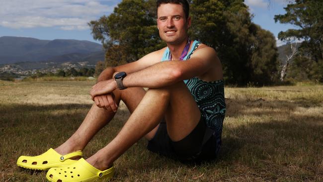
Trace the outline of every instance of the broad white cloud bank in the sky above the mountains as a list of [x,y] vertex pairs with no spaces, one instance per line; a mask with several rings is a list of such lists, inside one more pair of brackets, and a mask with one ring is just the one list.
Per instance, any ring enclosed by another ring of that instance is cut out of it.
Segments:
[[[87,22],[113,11],[103,0],[1,0],[0,26],[87,29]],[[106,0],[107,1],[107,0]],[[108,0],[109,1],[109,0]]]

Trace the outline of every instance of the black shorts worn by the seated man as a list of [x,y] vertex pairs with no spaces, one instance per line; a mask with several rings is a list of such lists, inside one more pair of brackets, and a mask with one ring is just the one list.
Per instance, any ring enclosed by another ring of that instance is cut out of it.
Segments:
[[180,141],[170,140],[166,122],[161,121],[160,126],[152,140],[148,142],[147,149],[160,155],[178,159],[184,163],[198,163],[216,158],[217,142],[213,133],[205,125],[201,117],[193,131]]

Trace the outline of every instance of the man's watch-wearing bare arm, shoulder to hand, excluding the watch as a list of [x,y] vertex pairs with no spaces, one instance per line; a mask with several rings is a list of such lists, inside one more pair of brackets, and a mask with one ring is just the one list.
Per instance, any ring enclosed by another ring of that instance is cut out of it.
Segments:
[[[213,48],[204,47],[194,52],[187,61],[164,61],[137,72],[128,74],[123,79],[125,87],[161,88],[179,81],[201,76],[214,69],[219,62]],[[123,70],[121,70],[123,71]],[[90,94],[93,98],[117,89],[114,80],[107,80],[93,86]]]

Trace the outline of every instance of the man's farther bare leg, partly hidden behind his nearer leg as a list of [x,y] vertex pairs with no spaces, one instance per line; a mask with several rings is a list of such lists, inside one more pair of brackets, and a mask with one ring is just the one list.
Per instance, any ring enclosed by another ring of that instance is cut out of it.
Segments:
[[[122,99],[130,112],[135,110],[145,93],[146,91],[142,88],[129,88],[123,91],[114,91],[117,105],[119,105],[119,102]],[[83,150],[93,136],[112,120],[114,114],[115,113],[111,109],[99,108],[93,104],[78,130],[65,143],[54,150],[61,155]]]

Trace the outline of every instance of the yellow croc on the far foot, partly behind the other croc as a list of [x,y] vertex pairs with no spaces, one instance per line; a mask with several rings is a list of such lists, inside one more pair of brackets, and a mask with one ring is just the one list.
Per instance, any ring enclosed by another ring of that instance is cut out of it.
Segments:
[[77,161],[71,158],[82,156],[82,151],[72,152],[62,156],[50,148],[47,152],[39,156],[20,156],[17,160],[17,166],[31,170],[49,170],[53,167],[73,164]]

